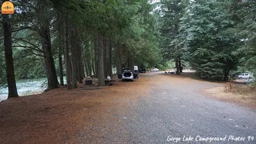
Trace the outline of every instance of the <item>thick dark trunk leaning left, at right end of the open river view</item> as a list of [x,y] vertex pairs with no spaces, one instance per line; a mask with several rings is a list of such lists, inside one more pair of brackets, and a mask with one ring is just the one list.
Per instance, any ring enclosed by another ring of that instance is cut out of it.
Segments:
[[54,65],[54,60],[51,55],[51,42],[50,42],[50,33],[49,33],[49,23],[44,22],[44,25],[40,27],[40,38],[42,44],[42,51],[43,51],[43,58],[44,64],[46,68],[46,74],[48,79],[48,88],[47,90],[57,88],[58,87],[58,80]]

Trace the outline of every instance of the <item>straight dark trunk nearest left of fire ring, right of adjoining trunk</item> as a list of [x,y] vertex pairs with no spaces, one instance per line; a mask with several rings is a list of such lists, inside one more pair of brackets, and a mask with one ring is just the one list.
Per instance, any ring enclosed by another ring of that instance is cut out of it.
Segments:
[[77,88],[77,42],[76,42],[76,31],[74,29],[74,24],[72,24],[71,28],[71,66],[72,66],[72,88]]

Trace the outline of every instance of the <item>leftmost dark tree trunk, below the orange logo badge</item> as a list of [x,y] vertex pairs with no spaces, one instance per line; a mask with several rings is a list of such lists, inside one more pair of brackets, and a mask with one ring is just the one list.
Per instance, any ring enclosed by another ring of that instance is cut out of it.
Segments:
[[4,55],[8,85],[8,97],[17,97],[17,87],[14,74],[14,65],[12,57],[12,46],[11,46],[11,26],[8,14],[2,14],[2,28],[4,37]]

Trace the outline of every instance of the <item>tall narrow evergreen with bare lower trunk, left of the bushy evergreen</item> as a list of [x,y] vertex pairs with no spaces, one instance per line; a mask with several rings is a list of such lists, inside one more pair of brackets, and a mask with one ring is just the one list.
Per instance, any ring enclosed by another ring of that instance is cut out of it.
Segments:
[[175,60],[177,74],[181,72],[182,56],[182,47],[178,43],[179,25],[187,4],[188,0],[160,0],[162,50],[166,58]]

